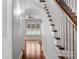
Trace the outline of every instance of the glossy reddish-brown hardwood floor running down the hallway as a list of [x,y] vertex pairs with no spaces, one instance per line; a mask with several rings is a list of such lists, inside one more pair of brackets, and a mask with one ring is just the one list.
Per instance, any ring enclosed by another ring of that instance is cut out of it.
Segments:
[[21,59],[45,59],[41,43],[39,41],[26,41]]

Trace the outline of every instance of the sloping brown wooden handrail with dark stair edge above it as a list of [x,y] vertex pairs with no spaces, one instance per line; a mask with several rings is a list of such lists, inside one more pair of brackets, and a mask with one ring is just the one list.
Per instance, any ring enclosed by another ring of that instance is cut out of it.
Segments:
[[71,19],[69,20],[73,26],[77,29],[77,16],[75,16],[72,12],[70,12],[70,10],[68,9],[68,7],[66,8],[65,3],[62,2],[60,0],[55,0],[57,2],[57,4],[60,6],[60,8],[64,11],[64,13]]

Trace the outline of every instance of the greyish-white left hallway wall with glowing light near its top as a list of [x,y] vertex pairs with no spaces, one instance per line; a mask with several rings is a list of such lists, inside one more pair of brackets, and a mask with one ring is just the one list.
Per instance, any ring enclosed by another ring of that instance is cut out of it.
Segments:
[[19,0],[13,0],[12,59],[18,59],[23,48],[23,21],[20,21],[19,10]]

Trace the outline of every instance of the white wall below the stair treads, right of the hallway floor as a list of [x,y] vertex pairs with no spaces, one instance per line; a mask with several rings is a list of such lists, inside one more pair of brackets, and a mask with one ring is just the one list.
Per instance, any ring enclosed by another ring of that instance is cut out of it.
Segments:
[[[45,15],[44,15],[45,16]],[[44,34],[43,34],[43,47],[44,52],[46,54],[46,59],[58,59],[56,48],[54,45],[54,36],[52,35],[52,31],[50,30],[50,22],[48,18],[44,18]]]

